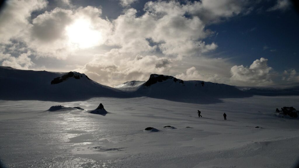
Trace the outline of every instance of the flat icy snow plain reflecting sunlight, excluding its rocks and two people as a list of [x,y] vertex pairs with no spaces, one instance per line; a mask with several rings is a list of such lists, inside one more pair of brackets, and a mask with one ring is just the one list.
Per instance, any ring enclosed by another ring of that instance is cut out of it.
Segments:
[[[6,167],[36,168],[281,168],[297,163],[299,120],[279,118],[274,112],[283,106],[299,109],[299,96],[221,100],[212,104],[149,97],[65,103],[0,100],[0,158]],[[89,113],[100,103],[109,114]],[[47,111],[55,105],[85,110]],[[174,128],[163,128],[168,125]],[[159,131],[144,130],[147,127]]]

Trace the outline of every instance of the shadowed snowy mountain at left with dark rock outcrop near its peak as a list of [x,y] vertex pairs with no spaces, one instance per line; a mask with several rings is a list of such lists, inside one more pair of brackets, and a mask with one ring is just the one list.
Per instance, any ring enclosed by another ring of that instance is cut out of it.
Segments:
[[125,97],[123,91],[101,85],[78,72],[19,70],[0,66],[2,100],[83,100],[91,97]]

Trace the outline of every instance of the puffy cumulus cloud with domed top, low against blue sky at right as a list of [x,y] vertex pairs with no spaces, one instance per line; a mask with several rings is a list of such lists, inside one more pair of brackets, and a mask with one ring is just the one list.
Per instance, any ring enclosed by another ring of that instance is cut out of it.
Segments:
[[239,86],[261,86],[273,84],[272,68],[267,65],[268,59],[255,60],[250,67],[233,66],[231,68],[231,82]]

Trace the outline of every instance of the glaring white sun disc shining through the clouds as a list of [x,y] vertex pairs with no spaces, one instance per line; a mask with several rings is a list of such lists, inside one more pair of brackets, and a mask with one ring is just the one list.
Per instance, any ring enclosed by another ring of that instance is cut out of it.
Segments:
[[90,48],[99,45],[102,40],[101,32],[95,30],[91,25],[91,21],[86,19],[77,19],[72,25],[66,27],[65,30],[71,46]]

